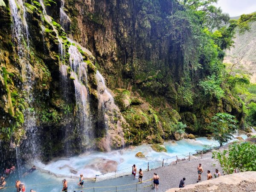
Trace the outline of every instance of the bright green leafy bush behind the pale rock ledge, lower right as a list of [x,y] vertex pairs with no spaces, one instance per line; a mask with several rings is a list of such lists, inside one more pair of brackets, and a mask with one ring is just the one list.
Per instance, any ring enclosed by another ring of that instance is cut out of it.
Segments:
[[212,154],[226,174],[256,171],[256,145],[253,143],[235,142],[228,151],[214,151]]

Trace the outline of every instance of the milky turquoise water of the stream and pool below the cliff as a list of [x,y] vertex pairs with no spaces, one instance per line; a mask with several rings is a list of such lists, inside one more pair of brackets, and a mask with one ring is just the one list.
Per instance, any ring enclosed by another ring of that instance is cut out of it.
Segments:
[[[241,137],[246,138],[246,135],[241,135]],[[15,192],[16,191],[15,188],[9,188],[9,187],[14,186],[15,180],[18,179],[25,184],[26,192],[29,192],[30,189],[34,189],[36,192],[61,192],[61,189],[62,189],[61,180],[66,178],[68,180],[69,191],[80,192],[81,190],[77,190],[79,189],[79,186],[77,185],[78,179],[74,178],[74,176],[78,177],[81,173],[84,175],[84,177],[95,177],[95,175],[102,174],[99,170],[95,170],[96,169],[95,166],[94,166],[94,169],[92,169],[93,166],[90,167],[90,165],[101,163],[102,159],[116,161],[118,163],[117,170],[127,168],[126,171],[128,172],[129,176],[119,177],[116,179],[105,180],[105,181],[96,182],[96,183],[86,181],[85,182],[86,184],[84,184],[84,187],[116,186],[116,185],[124,185],[127,183],[136,183],[137,179],[133,180],[130,175],[131,166],[133,164],[136,164],[139,169],[140,168],[147,169],[148,162],[155,162],[155,163],[150,163],[150,169],[152,168],[152,166],[153,168],[156,168],[162,165],[163,159],[173,158],[173,160],[175,160],[176,155],[179,156],[183,154],[188,154],[189,152],[193,154],[197,150],[209,148],[210,146],[218,146],[219,144],[215,140],[208,140],[206,137],[200,137],[200,138],[196,138],[195,140],[175,141],[175,143],[172,143],[171,141],[169,141],[164,143],[164,145],[167,149],[167,152],[156,152],[152,150],[150,145],[140,145],[135,148],[122,149],[119,151],[111,151],[108,153],[92,152],[92,153],[81,154],[76,157],[59,158],[58,160],[49,162],[47,165],[44,165],[43,163],[35,160],[35,161],[32,161],[31,163],[35,164],[40,168],[43,168],[58,174],[70,175],[70,176],[56,178],[53,175],[42,173],[37,170],[31,173],[30,175],[27,175],[25,177],[20,177],[18,175],[18,172],[15,171],[13,175],[10,175],[10,177],[6,179],[7,188],[1,191]],[[143,152],[143,154],[145,155],[145,158],[135,157],[135,154],[139,151]],[[145,165],[140,166],[143,164]],[[70,173],[71,169],[76,170],[78,173],[76,175]],[[23,171],[20,170],[20,175],[22,175],[23,172],[25,172],[25,170]],[[71,176],[73,176],[73,178],[70,178]],[[109,177],[111,176],[113,176],[113,174],[109,175]],[[141,186],[146,184],[148,183],[141,184]],[[128,189],[133,187],[134,186],[123,186],[119,188]],[[115,188],[114,189],[113,188],[95,189],[95,191],[97,192],[112,191],[112,190],[115,190]],[[140,190],[143,191],[143,189],[140,189]],[[93,189],[83,189],[83,192],[90,192],[90,191],[93,191]]]

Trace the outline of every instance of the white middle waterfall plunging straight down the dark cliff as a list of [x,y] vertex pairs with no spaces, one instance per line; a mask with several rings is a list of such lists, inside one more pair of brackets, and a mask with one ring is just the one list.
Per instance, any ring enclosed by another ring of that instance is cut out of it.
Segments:
[[[83,57],[77,47],[70,45],[70,79],[73,79],[75,86],[76,105],[78,107],[79,136],[82,146],[89,146],[94,138],[94,130],[90,119],[89,96],[87,89],[87,64],[83,62]],[[68,67],[61,65],[62,80],[67,83]],[[81,150],[84,150],[82,148]]]

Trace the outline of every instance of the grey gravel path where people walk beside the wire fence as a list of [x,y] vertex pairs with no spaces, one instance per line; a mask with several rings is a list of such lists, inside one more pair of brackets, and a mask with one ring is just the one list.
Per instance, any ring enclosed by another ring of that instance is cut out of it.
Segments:
[[[177,164],[161,167],[149,172],[144,172],[143,179],[147,180],[153,177],[154,172],[157,173],[160,177],[159,192],[165,192],[167,189],[179,187],[180,180],[183,177],[186,177],[185,185],[195,184],[198,179],[197,167],[201,163],[204,169],[204,172],[201,175],[201,180],[207,180],[207,170],[210,170],[212,176],[215,172],[215,169],[218,169],[222,173],[221,167],[218,165],[218,162],[211,158],[211,153],[205,154],[205,158],[196,159],[187,162],[178,162]],[[215,166],[214,166],[215,164]],[[145,192],[153,192],[154,189],[150,187],[143,189]]]

